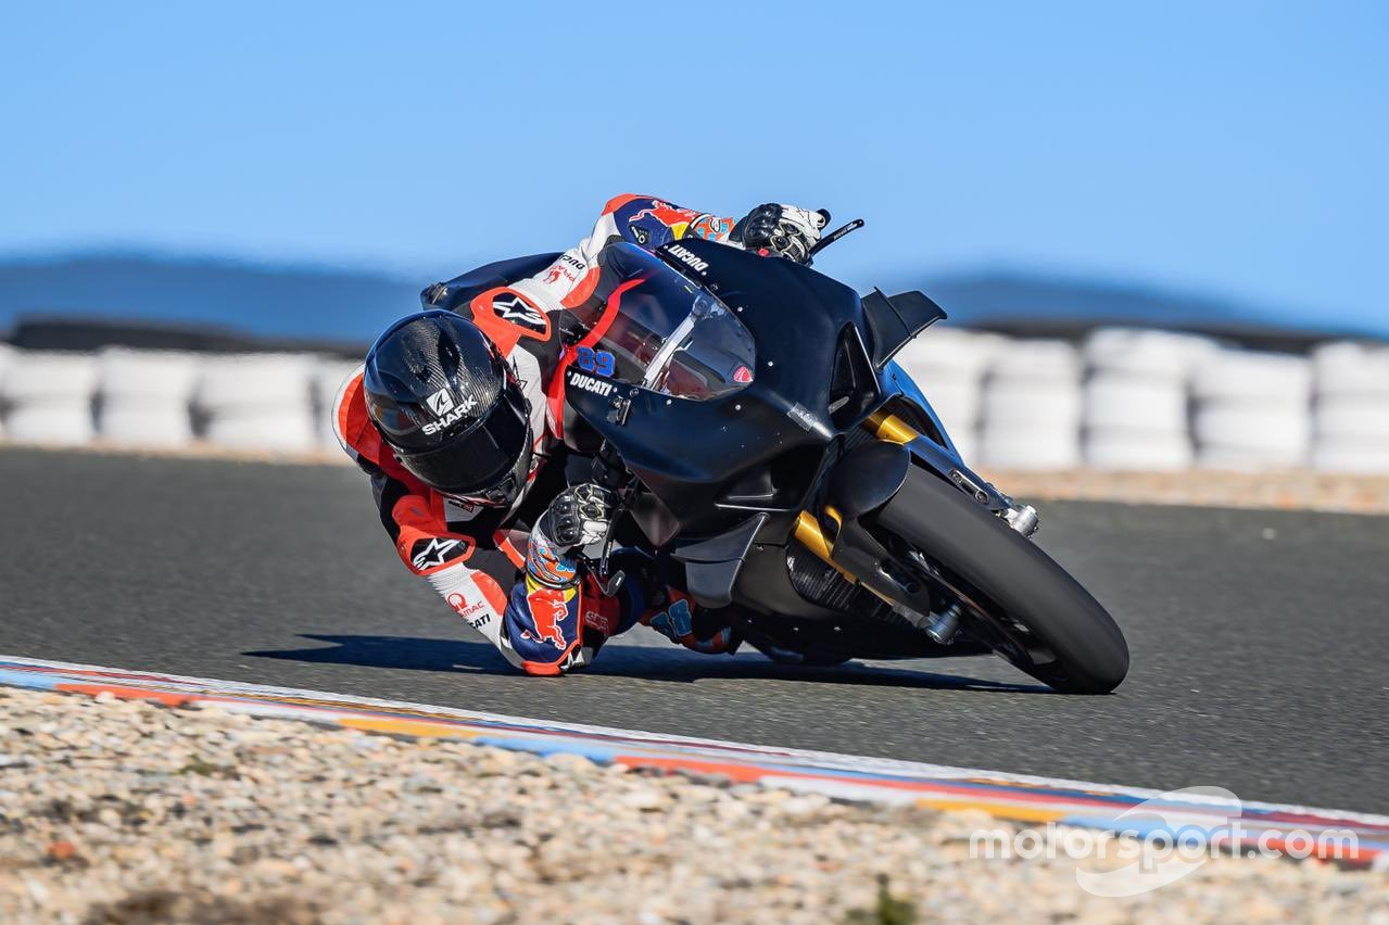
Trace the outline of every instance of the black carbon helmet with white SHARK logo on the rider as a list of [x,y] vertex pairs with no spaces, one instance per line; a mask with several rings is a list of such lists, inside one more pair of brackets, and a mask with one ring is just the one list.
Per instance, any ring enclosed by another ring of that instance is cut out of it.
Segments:
[[531,415],[515,372],[476,325],[433,308],[367,351],[367,414],[429,488],[510,507],[531,471]]

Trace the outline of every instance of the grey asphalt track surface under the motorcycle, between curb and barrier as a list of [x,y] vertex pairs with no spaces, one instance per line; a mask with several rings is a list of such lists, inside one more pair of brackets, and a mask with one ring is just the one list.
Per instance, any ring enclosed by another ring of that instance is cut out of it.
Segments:
[[774,665],[638,629],[514,674],[394,557],[350,468],[0,450],[0,653],[1245,800],[1389,812],[1389,518],[1053,503],[1133,667]]

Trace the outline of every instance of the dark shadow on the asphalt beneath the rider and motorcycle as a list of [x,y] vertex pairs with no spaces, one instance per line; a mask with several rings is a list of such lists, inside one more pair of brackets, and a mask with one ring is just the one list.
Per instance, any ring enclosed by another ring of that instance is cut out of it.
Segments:
[[[329,646],[279,651],[247,651],[256,658],[283,658],[311,664],[447,671],[486,675],[517,675],[517,669],[489,643],[414,636],[338,636],[301,633]],[[700,656],[682,649],[610,643],[585,676],[610,675],[643,681],[693,682],[704,679],[779,679],[840,685],[926,688],[938,690],[983,690],[999,693],[1053,693],[1036,683],[1007,683],[961,675],[940,675],[915,668],[888,668],[846,662],[829,668],[782,665],[760,654]]]

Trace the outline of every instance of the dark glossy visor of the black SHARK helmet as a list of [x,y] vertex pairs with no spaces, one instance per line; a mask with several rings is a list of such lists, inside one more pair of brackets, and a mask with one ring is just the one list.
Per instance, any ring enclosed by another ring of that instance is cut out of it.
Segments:
[[515,383],[508,383],[488,417],[443,446],[396,454],[429,488],[447,494],[474,494],[507,478],[529,440],[525,399]]

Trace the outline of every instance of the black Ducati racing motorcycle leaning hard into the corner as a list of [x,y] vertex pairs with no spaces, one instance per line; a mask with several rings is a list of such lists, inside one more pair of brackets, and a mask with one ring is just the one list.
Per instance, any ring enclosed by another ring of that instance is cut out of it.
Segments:
[[992,650],[1063,692],[1124,679],[1118,626],[1028,539],[1036,511],[964,464],[893,362],[946,317],[931,299],[699,239],[600,265],[561,361],[564,440],[699,606],[778,660]]

